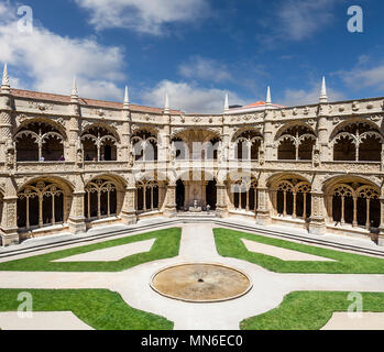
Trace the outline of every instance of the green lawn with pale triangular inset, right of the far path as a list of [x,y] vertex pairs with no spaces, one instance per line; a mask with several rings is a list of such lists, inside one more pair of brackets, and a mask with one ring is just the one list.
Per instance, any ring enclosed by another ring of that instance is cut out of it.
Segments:
[[[216,246],[220,255],[244,260],[276,273],[325,273],[325,274],[384,274],[384,260],[332,251],[328,249],[272,239],[228,229],[213,229]],[[241,241],[246,239],[288,250],[325,256],[337,262],[282,261],[261,253],[249,252]]]

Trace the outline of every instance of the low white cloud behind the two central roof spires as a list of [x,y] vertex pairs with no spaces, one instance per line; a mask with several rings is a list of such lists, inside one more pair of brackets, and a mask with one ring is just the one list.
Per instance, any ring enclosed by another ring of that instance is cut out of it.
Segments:
[[[144,91],[144,103],[163,107],[166,92],[169,96],[171,108],[189,113],[221,113],[224,107],[226,92],[228,91],[195,87],[186,82],[162,80],[153,89]],[[235,94],[229,92],[229,95],[230,105],[244,105],[244,101]]]

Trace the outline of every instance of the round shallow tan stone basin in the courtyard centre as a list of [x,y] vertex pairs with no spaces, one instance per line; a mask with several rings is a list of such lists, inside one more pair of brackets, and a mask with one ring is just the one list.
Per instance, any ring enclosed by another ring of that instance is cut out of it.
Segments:
[[152,276],[151,287],[173,299],[194,302],[230,300],[245,295],[251,279],[241,271],[221,264],[178,264]]

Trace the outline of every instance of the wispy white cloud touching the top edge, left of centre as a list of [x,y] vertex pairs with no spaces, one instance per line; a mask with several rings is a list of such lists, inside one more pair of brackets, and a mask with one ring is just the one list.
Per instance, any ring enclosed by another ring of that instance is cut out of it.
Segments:
[[207,0],[75,0],[90,12],[97,30],[123,28],[162,34],[173,22],[190,22],[207,16]]

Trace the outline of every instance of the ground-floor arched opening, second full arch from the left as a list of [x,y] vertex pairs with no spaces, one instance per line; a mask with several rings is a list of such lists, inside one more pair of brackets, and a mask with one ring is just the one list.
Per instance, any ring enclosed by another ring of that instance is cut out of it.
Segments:
[[88,221],[117,216],[117,186],[113,182],[96,178],[85,190],[84,209]]

